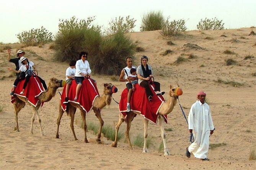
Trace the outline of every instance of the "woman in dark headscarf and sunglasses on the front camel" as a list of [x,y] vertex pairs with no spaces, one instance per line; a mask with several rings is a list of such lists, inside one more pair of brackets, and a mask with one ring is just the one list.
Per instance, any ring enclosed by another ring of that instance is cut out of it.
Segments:
[[[148,65],[148,58],[147,56],[142,56],[140,59],[141,65],[137,68],[137,76],[139,78],[139,85],[145,87],[147,97],[149,101],[152,101],[153,93],[150,90],[148,80],[153,78],[153,70],[150,65]],[[156,95],[163,95],[165,94],[164,91],[160,92],[160,83],[153,82],[155,84],[155,93]]]

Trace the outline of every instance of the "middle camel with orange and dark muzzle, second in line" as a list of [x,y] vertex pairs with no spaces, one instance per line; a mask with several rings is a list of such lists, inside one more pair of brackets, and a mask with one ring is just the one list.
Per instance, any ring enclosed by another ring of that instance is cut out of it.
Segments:
[[[95,101],[93,102],[93,112],[95,112],[96,117],[99,119],[99,123],[100,123],[100,127],[99,127],[99,131],[98,131],[98,135],[97,135],[97,139],[96,141],[98,141],[98,143],[101,143],[101,130],[102,127],[104,125],[104,121],[101,118],[101,112],[99,111],[99,109],[102,109],[103,107],[105,107],[106,105],[109,105],[111,103],[112,100],[112,94],[113,94],[113,90],[116,88],[115,86],[113,86],[111,83],[104,83],[104,90],[103,90],[103,95],[101,97],[96,97]],[[116,88],[117,91],[117,88]],[[116,92],[115,91],[115,92]],[[114,92],[114,93],[115,93]],[[83,119],[83,129],[85,131],[85,143],[88,143],[87,137],[86,137],[86,112],[83,110],[83,108],[77,104],[77,103],[73,103],[73,102],[68,102],[67,104],[67,109],[66,112],[67,114],[70,115],[70,127],[71,130],[73,132],[74,138],[75,140],[77,140],[77,137],[75,135],[75,131],[74,131],[74,117],[75,117],[75,112],[76,110],[80,109],[81,111],[81,115],[82,115],[82,119]],[[59,138],[59,126],[60,126],[60,119],[62,118],[64,111],[62,110],[61,107],[61,100],[60,100],[60,104],[59,104],[59,117],[57,119],[57,131],[56,131],[56,138]]]

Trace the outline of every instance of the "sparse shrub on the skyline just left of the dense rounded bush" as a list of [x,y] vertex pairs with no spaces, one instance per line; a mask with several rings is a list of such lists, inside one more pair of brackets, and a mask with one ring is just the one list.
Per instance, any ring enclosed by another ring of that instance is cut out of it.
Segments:
[[130,16],[126,16],[125,20],[124,17],[119,16],[119,18],[111,19],[108,23],[109,28],[105,30],[107,34],[115,34],[117,32],[133,32],[133,28],[135,27],[135,19],[130,18]]

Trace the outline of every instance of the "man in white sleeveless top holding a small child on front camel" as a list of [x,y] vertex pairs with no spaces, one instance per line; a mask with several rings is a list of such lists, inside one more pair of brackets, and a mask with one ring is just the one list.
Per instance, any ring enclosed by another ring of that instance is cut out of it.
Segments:
[[131,109],[130,109],[130,98],[132,97],[132,84],[127,81],[127,78],[131,82],[134,81],[134,80],[138,80],[138,78],[137,77],[129,77],[130,69],[131,68],[136,69],[135,66],[132,66],[132,57],[127,57],[126,58],[126,64],[127,64],[127,66],[124,67],[121,71],[119,81],[120,82],[126,82],[126,87],[127,87],[127,90],[128,90],[126,110],[127,110],[127,112],[130,112],[131,111]]

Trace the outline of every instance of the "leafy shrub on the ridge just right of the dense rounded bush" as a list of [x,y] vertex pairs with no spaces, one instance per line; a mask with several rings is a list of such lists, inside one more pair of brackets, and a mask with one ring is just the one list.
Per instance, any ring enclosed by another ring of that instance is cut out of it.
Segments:
[[169,21],[169,19],[170,18],[168,17],[163,23],[162,29],[160,31],[161,35],[165,37],[179,35],[181,34],[181,32],[187,29],[184,19],[179,19],[178,21],[176,21],[175,19],[173,21]]

